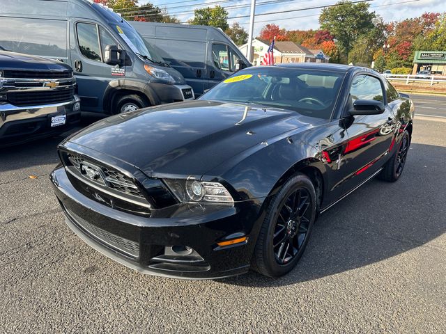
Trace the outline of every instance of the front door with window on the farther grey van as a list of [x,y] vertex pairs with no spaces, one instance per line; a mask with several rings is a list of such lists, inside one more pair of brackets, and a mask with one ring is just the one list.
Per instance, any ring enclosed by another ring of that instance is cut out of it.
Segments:
[[220,81],[237,72],[236,65],[240,59],[232,47],[221,43],[212,43],[209,54],[206,89],[212,88]]

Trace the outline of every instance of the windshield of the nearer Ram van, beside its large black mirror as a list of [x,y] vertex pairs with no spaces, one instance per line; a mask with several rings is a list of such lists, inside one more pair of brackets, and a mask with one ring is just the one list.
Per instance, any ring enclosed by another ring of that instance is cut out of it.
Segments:
[[164,60],[156,53],[155,49],[148,44],[148,42],[146,42],[132,26],[126,24],[126,22],[124,24],[112,24],[112,29],[118,32],[134,53],[139,54],[139,56],[146,58],[149,61],[165,64]]

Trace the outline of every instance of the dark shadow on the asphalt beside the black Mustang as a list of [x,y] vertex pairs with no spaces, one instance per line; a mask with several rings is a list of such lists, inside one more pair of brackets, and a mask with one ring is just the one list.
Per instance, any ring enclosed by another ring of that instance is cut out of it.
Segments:
[[374,264],[428,242],[435,247],[433,239],[446,232],[445,156],[444,147],[412,144],[399,181],[372,180],[318,218],[291,273],[266,278],[250,271],[220,283],[291,285]]

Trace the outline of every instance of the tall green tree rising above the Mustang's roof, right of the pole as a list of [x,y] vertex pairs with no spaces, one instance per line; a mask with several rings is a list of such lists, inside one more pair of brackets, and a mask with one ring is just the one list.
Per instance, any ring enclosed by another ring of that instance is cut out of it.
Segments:
[[375,12],[369,12],[369,3],[340,1],[339,6],[323,8],[319,16],[321,29],[328,30],[337,40],[345,60],[363,35],[375,28]]

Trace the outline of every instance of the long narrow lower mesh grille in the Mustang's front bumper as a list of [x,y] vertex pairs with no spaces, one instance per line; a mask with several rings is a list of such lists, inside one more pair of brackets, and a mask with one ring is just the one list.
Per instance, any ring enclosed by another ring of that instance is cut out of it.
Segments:
[[114,248],[115,250],[134,258],[139,256],[139,244],[136,241],[119,237],[116,234],[110,233],[102,228],[98,228],[98,226],[89,223],[84,218],[75,214],[75,212],[72,212],[70,209],[66,208],[66,212],[72,217],[74,223],[79,225],[79,227],[88,234],[91,234],[91,236],[100,241],[101,244],[105,244],[110,248]]

